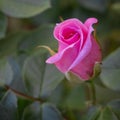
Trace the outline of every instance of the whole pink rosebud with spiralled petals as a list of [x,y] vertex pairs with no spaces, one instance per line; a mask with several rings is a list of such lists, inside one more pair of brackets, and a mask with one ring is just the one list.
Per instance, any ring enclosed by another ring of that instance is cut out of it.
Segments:
[[63,73],[72,72],[81,80],[93,75],[96,62],[101,62],[101,49],[92,32],[96,18],[88,18],[83,24],[76,18],[65,20],[54,28],[58,40],[58,52],[46,62],[55,64]]

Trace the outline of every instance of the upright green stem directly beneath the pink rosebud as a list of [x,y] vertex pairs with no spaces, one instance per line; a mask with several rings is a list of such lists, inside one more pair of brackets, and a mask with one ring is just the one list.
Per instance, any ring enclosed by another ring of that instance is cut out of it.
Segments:
[[92,92],[92,104],[96,105],[96,90],[93,80],[90,80],[91,92]]

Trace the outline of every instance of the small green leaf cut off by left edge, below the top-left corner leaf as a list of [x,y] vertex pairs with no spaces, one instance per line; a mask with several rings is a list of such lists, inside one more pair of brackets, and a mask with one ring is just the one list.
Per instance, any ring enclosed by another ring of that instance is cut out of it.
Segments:
[[5,36],[7,28],[7,17],[0,12],[0,39]]

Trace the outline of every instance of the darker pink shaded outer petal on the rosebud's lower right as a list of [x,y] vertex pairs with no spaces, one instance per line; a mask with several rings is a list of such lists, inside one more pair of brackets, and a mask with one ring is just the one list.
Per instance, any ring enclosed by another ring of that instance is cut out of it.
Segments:
[[79,76],[83,80],[88,80],[93,75],[93,69],[96,62],[101,62],[101,49],[97,41],[92,38],[91,52],[80,61],[71,72]]

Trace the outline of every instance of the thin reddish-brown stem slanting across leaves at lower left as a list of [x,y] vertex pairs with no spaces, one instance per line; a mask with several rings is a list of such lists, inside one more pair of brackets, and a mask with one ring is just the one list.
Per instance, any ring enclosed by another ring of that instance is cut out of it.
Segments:
[[21,96],[23,97],[24,99],[28,99],[28,100],[31,100],[31,101],[38,101],[40,103],[43,103],[45,102],[45,100],[41,99],[41,98],[35,98],[35,97],[32,97],[32,96],[29,96],[29,95],[26,95],[24,93],[21,93],[13,88],[11,88],[10,86],[8,85],[5,85],[5,89],[6,90],[11,90],[12,92],[14,92],[17,96]]

